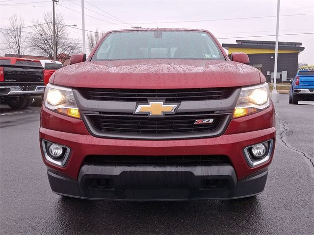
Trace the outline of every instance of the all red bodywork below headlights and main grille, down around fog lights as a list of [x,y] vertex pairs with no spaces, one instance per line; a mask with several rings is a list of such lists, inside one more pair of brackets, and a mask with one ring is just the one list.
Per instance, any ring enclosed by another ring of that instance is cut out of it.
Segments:
[[[76,118],[55,114],[43,107],[40,138],[62,143],[71,148],[69,163],[65,168],[45,164],[63,174],[77,179],[82,161],[87,155],[227,155],[238,180],[270,164],[250,168],[244,160],[243,148],[258,142],[275,139],[274,109],[271,105],[262,112],[232,120],[224,135],[216,138],[171,141],[115,140],[91,136],[84,123]],[[271,158],[272,159],[272,158]]]

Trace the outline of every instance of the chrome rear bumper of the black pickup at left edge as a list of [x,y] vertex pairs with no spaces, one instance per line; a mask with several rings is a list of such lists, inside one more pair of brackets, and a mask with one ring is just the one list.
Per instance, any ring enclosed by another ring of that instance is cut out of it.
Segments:
[[[22,86],[23,87],[23,86]],[[0,95],[1,96],[9,96],[9,95],[42,95],[45,93],[45,86],[24,86],[26,89],[22,89],[20,86],[8,86],[1,87],[0,86]]]

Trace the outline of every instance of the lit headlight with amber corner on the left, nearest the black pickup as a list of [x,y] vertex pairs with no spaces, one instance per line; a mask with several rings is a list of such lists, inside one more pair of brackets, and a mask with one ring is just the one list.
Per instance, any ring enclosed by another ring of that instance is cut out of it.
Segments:
[[73,118],[80,118],[73,91],[70,88],[47,84],[45,90],[45,106],[54,112]]

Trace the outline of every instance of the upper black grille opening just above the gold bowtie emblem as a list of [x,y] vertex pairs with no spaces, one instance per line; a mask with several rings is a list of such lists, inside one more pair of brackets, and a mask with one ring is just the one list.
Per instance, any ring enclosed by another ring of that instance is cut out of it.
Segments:
[[147,102],[160,99],[165,102],[226,99],[234,88],[192,88],[192,89],[107,89],[78,88],[85,99],[104,101]]

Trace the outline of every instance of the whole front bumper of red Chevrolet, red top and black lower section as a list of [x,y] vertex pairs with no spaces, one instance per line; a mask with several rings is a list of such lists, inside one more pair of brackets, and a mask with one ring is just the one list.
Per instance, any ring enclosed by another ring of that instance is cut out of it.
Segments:
[[[275,139],[275,128],[176,141],[140,141],[95,138],[88,135],[40,129],[40,138],[71,149],[64,167],[48,165],[52,191],[88,199],[187,200],[239,198],[263,191],[270,159],[255,167],[247,164],[243,149]],[[42,147],[42,146],[41,146]],[[209,166],[121,166],[85,163],[88,155],[225,155],[230,164]],[[108,183],[99,186],[97,180]],[[214,180],[214,186],[211,181]],[[96,183],[95,183],[96,182]]]

